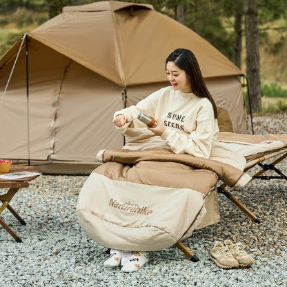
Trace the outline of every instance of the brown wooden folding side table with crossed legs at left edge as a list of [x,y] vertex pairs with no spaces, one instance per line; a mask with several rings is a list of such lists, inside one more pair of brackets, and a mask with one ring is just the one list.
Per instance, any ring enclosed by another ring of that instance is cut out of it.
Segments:
[[[6,175],[8,173],[13,173],[13,172],[37,172],[37,173],[39,173],[41,175],[41,172],[39,172],[39,170],[37,170],[33,166],[11,166],[9,172],[0,173],[0,175]],[[8,191],[5,194],[3,194],[3,195],[0,194],[0,201],[2,202],[2,205],[0,207],[0,215],[3,212],[3,210],[8,208],[8,210],[10,210],[10,212],[12,212],[12,215],[14,215],[14,217],[16,217],[18,219],[18,221],[22,225],[26,225],[26,222],[10,206],[9,202],[14,197],[14,195],[16,195],[16,193],[18,192],[18,190],[20,188],[28,188],[28,186],[29,186],[29,182],[28,181],[30,181],[30,180],[32,180],[32,179],[34,179],[36,177],[39,177],[39,175],[34,175],[34,176],[30,176],[30,177],[23,177],[21,179],[13,179],[13,180],[1,179],[0,178],[0,189],[2,189],[2,188],[9,188]],[[1,204],[1,202],[0,202],[0,204]],[[3,219],[1,219],[1,217],[0,217],[0,224],[1,224],[1,226],[3,226],[3,228],[5,228],[10,233],[10,235],[17,242],[21,242],[22,241],[21,238],[18,237],[16,235],[16,233],[6,224],[6,222],[3,221]]]

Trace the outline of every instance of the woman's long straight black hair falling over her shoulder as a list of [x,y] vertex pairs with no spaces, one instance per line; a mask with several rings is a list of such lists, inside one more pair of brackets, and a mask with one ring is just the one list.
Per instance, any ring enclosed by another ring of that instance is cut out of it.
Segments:
[[204,82],[204,77],[202,77],[201,70],[195,55],[187,49],[177,49],[174,50],[166,59],[166,64],[168,62],[175,62],[175,64],[181,69],[185,70],[186,75],[190,79],[190,88],[192,92],[201,98],[208,98],[212,104],[213,111],[215,114],[215,119],[217,119],[217,108],[215,101],[212,99],[206,83]]

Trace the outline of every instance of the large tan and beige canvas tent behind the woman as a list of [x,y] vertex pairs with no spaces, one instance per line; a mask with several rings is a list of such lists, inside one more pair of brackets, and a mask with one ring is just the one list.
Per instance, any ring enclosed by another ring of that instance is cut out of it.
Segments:
[[0,157],[30,159],[43,172],[90,172],[98,150],[123,145],[113,113],[168,86],[164,63],[175,48],[195,53],[217,106],[245,133],[241,70],[150,5],[102,1],[63,8],[0,60],[0,95],[10,78]]

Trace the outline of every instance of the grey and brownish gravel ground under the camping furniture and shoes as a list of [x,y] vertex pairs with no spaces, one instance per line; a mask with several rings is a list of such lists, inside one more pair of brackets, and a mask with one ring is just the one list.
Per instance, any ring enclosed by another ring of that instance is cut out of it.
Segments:
[[[255,134],[287,133],[287,112],[254,116]],[[280,164],[287,174],[286,161]],[[1,228],[0,286],[287,286],[286,181],[252,181],[233,191],[255,212],[253,223],[223,195],[221,221],[197,230],[184,244],[199,257],[194,263],[174,246],[153,252],[136,273],[105,268],[106,249],[81,230],[75,217],[77,196],[87,176],[43,175],[12,199],[26,220],[21,226],[4,210],[1,217],[21,237],[17,243]],[[224,270],[209,259],[216,240],[241,241],[255,264]]]

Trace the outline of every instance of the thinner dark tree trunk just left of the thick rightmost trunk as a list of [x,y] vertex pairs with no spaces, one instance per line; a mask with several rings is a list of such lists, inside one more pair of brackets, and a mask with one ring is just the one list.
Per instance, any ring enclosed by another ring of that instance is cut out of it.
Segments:
[[241,50],[242,50],[242,14],[243,14],[243,1],[235,1],[235,41],[234,41],[234,58],[233,63],[241,69]]

